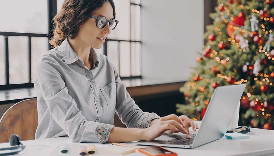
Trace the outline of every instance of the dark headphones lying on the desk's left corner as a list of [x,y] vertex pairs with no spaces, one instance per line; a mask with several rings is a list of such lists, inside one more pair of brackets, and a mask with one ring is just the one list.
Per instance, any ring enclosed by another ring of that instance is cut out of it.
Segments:
[[23,151],[26,148],[26,145],[20,142],[21,139],[19,135],[12,134],[9,137],[9,144],[11,147],[0,148],[0,156],[2,155],[14,155]]

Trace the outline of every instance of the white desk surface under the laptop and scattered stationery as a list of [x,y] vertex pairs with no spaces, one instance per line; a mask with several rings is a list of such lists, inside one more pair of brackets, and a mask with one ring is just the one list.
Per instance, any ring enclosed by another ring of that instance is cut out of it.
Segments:
[[[230,155],[241,155],[241,156],[257,156],[264,155],[270,156],[274,155],[274,131],[255,129],[251,128],[251,132],[247,133],[250,135],[249,139],[238,139],[229,140],[221,138],[217,141],[207,143],[200,147],[194,149],[180,149],[180,148],[167,148],[171,151],[178,153],[179,156],[230,156]],[[84,145],[86,143],[74,144],[70,141],[68,137],[59,138],[48,138],[40,140],[30,140],[23,141],[26,144],[26,149],[19,153],[20,156],[44,156],[44,155],[78,155],[78,148],[70,148],[79,145]],[[56,149],[61,143],[69,144],[69,153],[62,154],[59,153],[59,148]],[[146,147],[141,145],[134,145],[132,143],[126,143],[126,145],[136,146],[136,147]],[[8,147],[9,143],[0,144],[1,147]],[[97,153],[93,155],[103,155],[99,154],[99,150],[102,148],[110,147],[110,144],[95,144]],[[54,150],[55,149],[55,150]],[[57,152],[55,152],[57,151]],[[54,152],[54,153],[52,153]],[[74,153],[75,152],[75,153]],[[105,154],[104,154],[105,155]],[[103,156],[104,156],[103,155]],[[126,156],[145,156],[143,153],[130,153]],[[114,155],[110,155],[114,156]]]

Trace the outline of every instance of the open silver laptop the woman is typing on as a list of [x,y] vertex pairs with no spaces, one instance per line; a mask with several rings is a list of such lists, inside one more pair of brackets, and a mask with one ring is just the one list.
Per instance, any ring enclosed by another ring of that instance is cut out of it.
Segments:
[[214,90],[197,134],[188,139],[183,133],[164,134],[153,141],[134,144],[178,148],[195,148],[222,138],[241,99],[246,84],[221,86]]

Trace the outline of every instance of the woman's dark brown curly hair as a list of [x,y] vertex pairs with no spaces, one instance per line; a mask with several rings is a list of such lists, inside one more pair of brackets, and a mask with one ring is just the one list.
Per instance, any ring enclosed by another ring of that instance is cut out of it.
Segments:
[[66,37],[74,39],[78,34],[80,25],[86,23],[91,13],[107,2],[113,8],[113,17],[115,19],[113,0],[65,0],[61,11],[53,18],[54,35],[49,41],[52,48],[60,46]]

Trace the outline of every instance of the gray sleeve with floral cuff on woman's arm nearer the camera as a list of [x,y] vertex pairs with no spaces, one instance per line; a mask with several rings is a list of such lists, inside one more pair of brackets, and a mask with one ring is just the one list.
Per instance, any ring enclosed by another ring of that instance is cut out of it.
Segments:
[[45,99],[53,119],[75,143],[108,140],[114,125],[87,121],[68,94],[64,78],[57,62],[50,56],[36,64],[35,85]]

